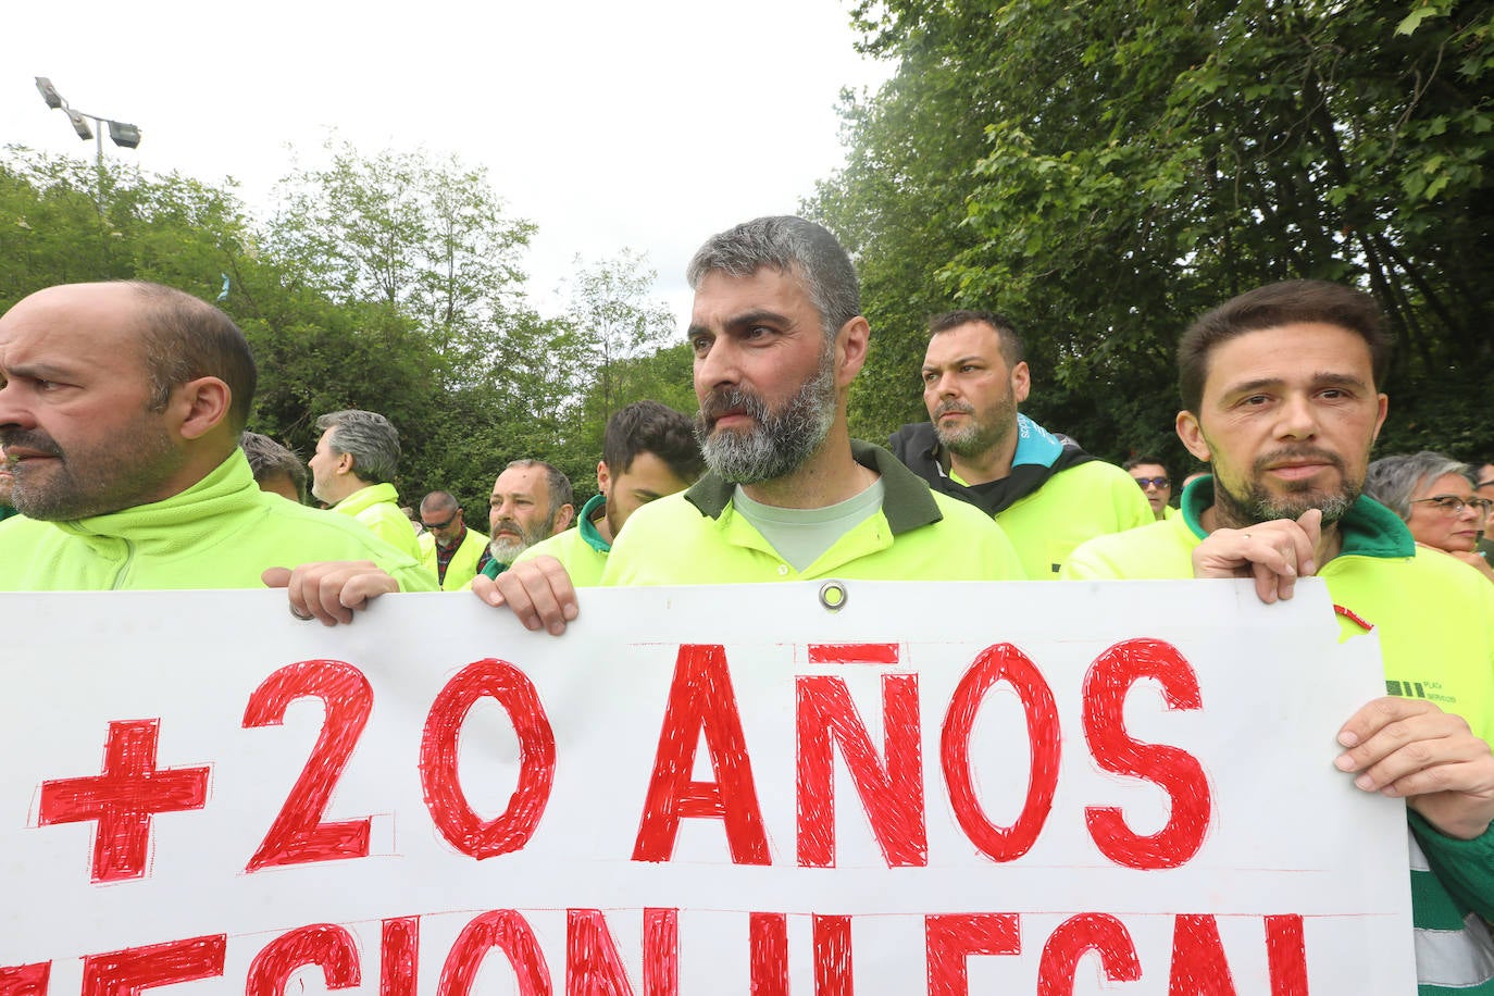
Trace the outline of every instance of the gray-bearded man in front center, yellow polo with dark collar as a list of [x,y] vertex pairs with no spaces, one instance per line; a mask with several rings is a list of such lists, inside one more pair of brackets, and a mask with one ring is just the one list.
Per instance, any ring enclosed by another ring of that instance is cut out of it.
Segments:
[[[1023,576],[989,515],[850,438],[846,403],[871,330],[835,236],[802,218],[757,218],[708,239],[687,278],[707,473],[627,520],[604,585]],[[321,570],[303,584],[326,590]],[[580,611],[554,557],[475,578],[472,590],[530,630],[563,633]]]

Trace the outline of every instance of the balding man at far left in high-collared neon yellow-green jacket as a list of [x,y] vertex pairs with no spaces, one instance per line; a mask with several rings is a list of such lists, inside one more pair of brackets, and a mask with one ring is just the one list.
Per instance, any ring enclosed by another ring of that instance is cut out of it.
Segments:
[[433,588],[362,527],[255,487],[239,448],[252,390],[244,336],[181,291],[69,284],[10,308],[0,448],[22,515],[0,526],[0,590],[247,588],[309,560]]

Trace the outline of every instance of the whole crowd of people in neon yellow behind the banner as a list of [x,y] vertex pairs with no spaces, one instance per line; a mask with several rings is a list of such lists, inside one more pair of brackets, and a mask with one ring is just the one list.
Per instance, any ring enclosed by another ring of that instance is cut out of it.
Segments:
[[269,584],[336,624],[471,588],[559,633],[590,585],[1250,578],[1276,602],[1318,575],[1345,636],[1380,636],[1391,694],[1336,732],[1336,765],[1406,800],[1421,993],[1494,993],[1494,466],[1370,461],[1391,348],[1370,296],[1273,284],[1183,333],[1176,429],[1209,470],[1174,505],[1156,457],[1118,467],[1020,414],[1032,372],[994,312],[932,320],[929,421],[852,439],[871,329],[820,225],[744,222],[687,276],[696,418],[617,412],[580,512],[556,467],[509,463],[489,536],[445,491],[417,530],[374,412],[318,420],[309,490],[329,509],[296,500],[306,469],[244,432],[254,363],[211,305],[136,282],[31,294],[0,317],[0,502],[18,511],[0,512],[0,590]]

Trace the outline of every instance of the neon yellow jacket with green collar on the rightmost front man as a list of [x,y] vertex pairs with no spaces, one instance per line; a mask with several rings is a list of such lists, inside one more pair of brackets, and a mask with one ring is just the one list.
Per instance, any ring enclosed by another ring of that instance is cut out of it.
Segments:
[[[1067,579],[1194,576],[1192,551],[1207,533],[1213,478],[1183,491],[1182,515],[1100,536],[1064,564]],[[1383,505],[1360,497],[1339,521],[1343,550],[1318,572],[1340,609],[1345,639],[1374,626],[1386,688],[1428,699],[1494,736],[1494,585],[1464,563],[1416,547]],[[1419,996],[1494,996],[1494,830],[1473,841],[1443,836],[1407,809],[1412,921]]]

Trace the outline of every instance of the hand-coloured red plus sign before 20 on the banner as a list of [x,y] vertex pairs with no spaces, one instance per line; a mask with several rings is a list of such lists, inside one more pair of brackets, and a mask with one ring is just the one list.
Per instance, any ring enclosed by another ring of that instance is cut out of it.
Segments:
[[140,878],[151,850],[151,815],[202,809],[206,768],[155,769],[160,720],[111,723],[103,774],[42,782],[40,824],[97,820],[93,880]]

